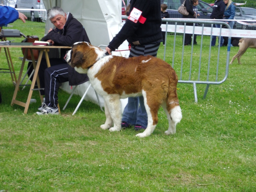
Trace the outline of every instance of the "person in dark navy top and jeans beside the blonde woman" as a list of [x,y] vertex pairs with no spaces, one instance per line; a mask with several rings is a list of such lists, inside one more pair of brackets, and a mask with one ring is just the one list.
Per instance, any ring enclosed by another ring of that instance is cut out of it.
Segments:
[[[210,16],[211,19],[223,19],[225,11],[225,3],[223,0],[215,0],[215,3],[213,5],[213,10],[212,14]],[[213,24],[213,27],[215,28],[220,28],[220,24]],[[220,47],[222,46],[223,43],[223,37],[220,37]],[[212,46],[215,46],[216,44],[216,36],[212,36]]]

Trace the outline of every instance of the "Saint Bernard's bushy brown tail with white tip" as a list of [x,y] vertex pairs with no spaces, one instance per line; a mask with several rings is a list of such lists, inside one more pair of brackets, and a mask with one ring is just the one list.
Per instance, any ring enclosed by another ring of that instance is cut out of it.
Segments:
[[178,76],[172,69],[169,72],[169,88],[167,93],[167,110],[171,116],[172,121],[175,123],[180,122],[182,118],[180,103],[177,94]]

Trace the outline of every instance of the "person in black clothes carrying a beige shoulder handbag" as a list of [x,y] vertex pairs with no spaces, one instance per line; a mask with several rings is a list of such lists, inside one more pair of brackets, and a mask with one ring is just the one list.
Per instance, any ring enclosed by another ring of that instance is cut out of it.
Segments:
[[[188,15],[182,15],[183,19],[195,19],[196,12],[193,11],[193,1],[185,0],[184,6],[188,11]],[[186,23],[186,26],[193,26],[193,23]],[[191,45],[192,42],[192,34],[185,33],[184,45]]]

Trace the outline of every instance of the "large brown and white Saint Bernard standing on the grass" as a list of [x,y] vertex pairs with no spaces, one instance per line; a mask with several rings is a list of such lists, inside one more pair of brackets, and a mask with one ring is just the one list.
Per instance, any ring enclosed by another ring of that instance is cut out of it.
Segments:
[[124,58],[105,53],[105,50],[90,43],[77,42],[65,56],[77,72],[87,73],[93,88],[104,99],[106,122],[100,127],[120,131],[120,99],[143,95],[148,127],[136,136],[147,137],[154,131],[160,106],[169,121],[165,134],[174,134],[176,124],[182,118],[177,96],[178,76],[174,69],[165,61],[149,55]]

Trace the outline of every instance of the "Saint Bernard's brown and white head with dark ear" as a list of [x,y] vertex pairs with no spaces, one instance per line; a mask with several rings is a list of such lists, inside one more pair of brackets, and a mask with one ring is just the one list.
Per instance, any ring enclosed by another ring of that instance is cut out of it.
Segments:
[[97,61],[99,48],[88,42],[74,43],[71,50],[66,52],[65,60],[78,73],[87,73],[87,69]]

